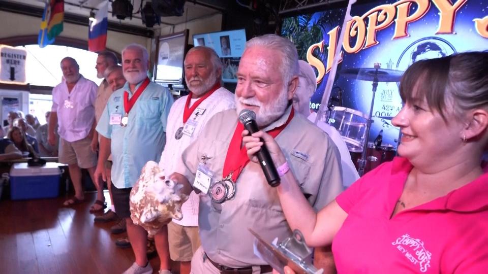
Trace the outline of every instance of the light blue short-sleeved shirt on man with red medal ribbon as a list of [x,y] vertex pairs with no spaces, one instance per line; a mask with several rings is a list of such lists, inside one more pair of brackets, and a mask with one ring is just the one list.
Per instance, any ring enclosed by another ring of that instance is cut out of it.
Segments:
[[[117,188],[133,187],[147,161],[159,162],[173,104],[168,89],[150,82],[129,112],[127,126],[123,127],[119,121],[125,114],[125,90],[129,90],[129,83],[112,93],[96,128],[98,133],[111,139],[112,183]],[[131,96],[129,92],[129,98]]]

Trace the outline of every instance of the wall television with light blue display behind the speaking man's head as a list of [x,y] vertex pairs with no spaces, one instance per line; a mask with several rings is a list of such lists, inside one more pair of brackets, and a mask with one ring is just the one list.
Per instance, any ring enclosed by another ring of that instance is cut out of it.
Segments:
[[237,83],[235,73],[239,66],[240,56],[246,46],[246,30],[201,33],[193,36],[193,44],[214,49],[222,60],[222,80]]

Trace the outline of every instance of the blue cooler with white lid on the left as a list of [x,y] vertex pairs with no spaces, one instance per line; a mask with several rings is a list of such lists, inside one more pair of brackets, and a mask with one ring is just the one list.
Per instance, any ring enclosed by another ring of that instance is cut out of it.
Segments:
[[59,178],[64,164],[47,162],[44,166],[15,163],[10,169],[12,200],[52,198],[59,195]]

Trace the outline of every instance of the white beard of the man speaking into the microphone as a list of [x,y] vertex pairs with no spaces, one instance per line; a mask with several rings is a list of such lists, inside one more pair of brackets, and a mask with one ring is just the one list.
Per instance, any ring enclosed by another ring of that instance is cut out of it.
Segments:
[[242,98],[235,95],[234,99],[237,115],[239,115],[241,110],[246,109],[242,104],[259,107],[256,113],[256,123],[261,128],[278,120],[283,116],[288,107],[288,98],[285,89],[282,90],[276,101],[269,102],[267,105],[263,105],[256,97]]

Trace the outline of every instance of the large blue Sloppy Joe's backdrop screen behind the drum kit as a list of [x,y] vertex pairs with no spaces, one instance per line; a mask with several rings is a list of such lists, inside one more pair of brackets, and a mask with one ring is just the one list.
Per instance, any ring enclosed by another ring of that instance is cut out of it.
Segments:
[[368,116],[373,97],[371,75],[376,71],[383,75],[373,102],[369,141],[373,142],[382,130],[383,144],[394,148],[399,129],[391,124],[391,118],[402,108],[397,81],[408,66],[421,59],[488,49],[487,2],[411,0],[355,4],[352,20],[346,25],[343,48],[336,49],[333,45],[339,38],[344,14],[345,8],[286,18],[282,35],[294,41],[300,58],[316,71],[318,85],[310,103],[313,111],[320,108],[336,51],[342,50],[342,60],[329,100],[333,105]]

